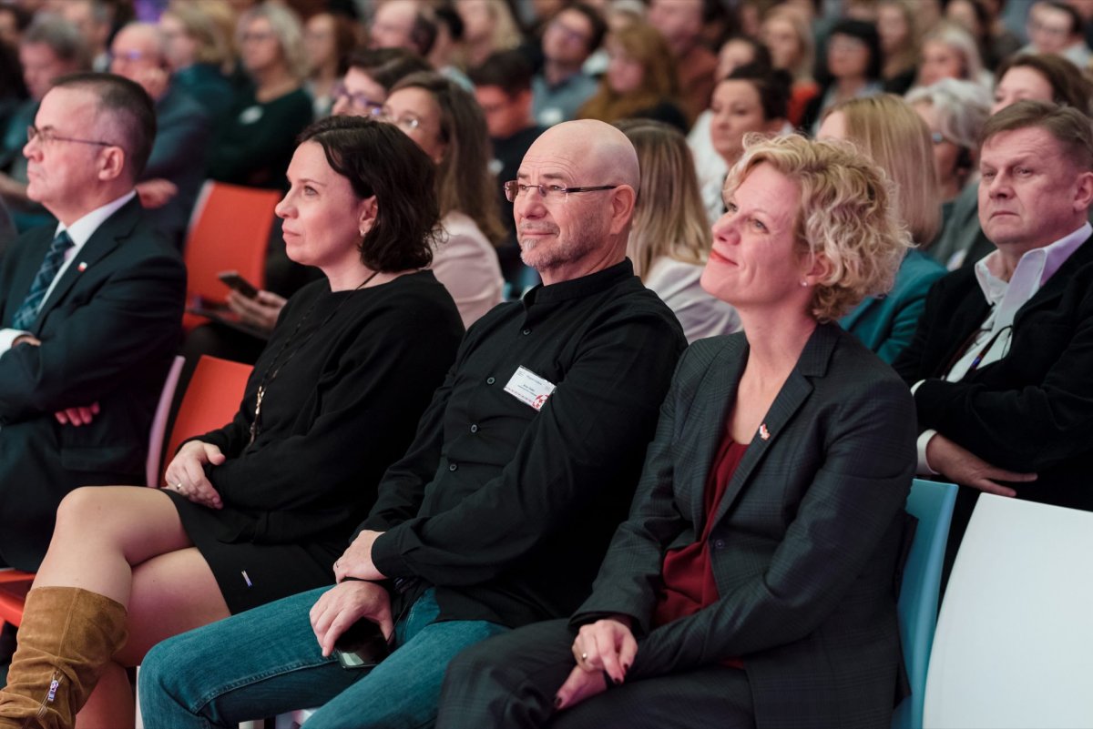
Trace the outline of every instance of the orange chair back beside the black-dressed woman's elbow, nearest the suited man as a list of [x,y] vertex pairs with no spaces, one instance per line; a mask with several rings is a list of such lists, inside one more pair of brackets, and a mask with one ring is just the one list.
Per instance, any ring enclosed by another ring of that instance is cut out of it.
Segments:
[[167,464],[186,439],[231,422],[239,409],[247,378],[252,369],[249,364],[216,357],[202,356],[198,360],[193,377],[183,395],[183,403],[178,406],[171,438],[167,439],[167,450],[164,451]]

